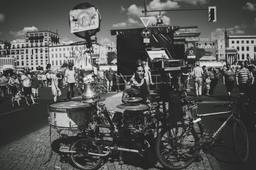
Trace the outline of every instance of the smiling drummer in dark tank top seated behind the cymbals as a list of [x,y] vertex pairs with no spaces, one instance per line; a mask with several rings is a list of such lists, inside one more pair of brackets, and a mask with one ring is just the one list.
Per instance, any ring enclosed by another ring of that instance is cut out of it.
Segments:
[[[131,79],[133,81],[133,83],[135,83],[136,85],[131,86],[130,85],[130,81],[128,81],[125,85],[125,89],[137,89],[140,91],[140,93],[138,94],[133,94],[132,97],[140,97],[142,98],[141,101],[136,102],[136,103],[141,103],[141,104],[145,104],[147,102],[147,95],[150,94],[150,90],[149,90],[149,81],[146,80],[144,77],[145,71],[143,69],[143,67],[139,64],[137,64],[134,69],[133,69],[133,73],[134,73],[134,78]],[[126,101],[124,101],[123,99],[126,98],[128,96],[127,93],[123,92],[123,97],[122,97],[122,102],[123,103],[127,103]],[[129,95],[129,97],[131,97],[131,95]]]

